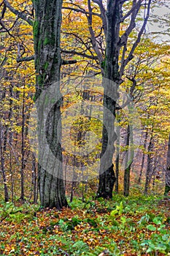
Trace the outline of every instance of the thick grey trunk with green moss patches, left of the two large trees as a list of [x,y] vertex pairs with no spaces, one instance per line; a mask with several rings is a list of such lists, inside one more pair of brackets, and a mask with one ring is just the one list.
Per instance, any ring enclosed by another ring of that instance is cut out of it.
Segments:
[[[61,53],[61,6],[62,0],[34,0],[36,19],[34,22],[34,51],[36,67],[36,96],[39,98],[42,90],[49,88],[60,79]],[[61,98],[58,88],[58,98]],[[58,101],[47,118],[47,143],[54,156],[60,160],[60,165],[53,166],[53,170],[38,165],[39,195],[42,207],[67,206],[65,189],[63,187],[62,152],[58,136],[61,136],[61,101]],[[41,125],[43,108],[38,110],[39,142],[41,143]],[[59,135],[58,135],[59,133]],[[45,152],[40,152],[44,154]],[[42,157],[42,156],[39,156]]]

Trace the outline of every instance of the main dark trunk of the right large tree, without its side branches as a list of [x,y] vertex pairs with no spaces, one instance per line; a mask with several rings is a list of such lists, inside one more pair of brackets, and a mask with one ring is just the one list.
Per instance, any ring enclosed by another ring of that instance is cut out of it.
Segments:
[[[101,163],[97,197],[112,198],[115,184],[115,173],[112,159],[115,153],[115,107],[118,98],[117,89],[120,83],[119,74],[119,31],[120,31],[120,1],[107,1],[107,39],[106,56],[104,62],[104,117],[102,132]],[[107,79],[105,79],[107,78]],[[112,116],[108,116],[109,113]]]

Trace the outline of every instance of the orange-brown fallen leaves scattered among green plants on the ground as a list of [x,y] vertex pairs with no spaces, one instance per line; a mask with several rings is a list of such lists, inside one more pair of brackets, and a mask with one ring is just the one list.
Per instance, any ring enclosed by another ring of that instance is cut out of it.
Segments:
[[[103,206],[104,212],[98,211],[98,208],[101,209]],[[120,203],[115,203],[114,200],[107,203],[94,201],[88,209],[84,206],[74,209],[63,208],[62,211],[53,208],[36,211],[36,214],[32,208],[24,209],[25,206],[20,208],[20,211],[14,208],[14,213],[1,221],[0,253],[88,255],[89,252],[92,255],[105,256],[110,255],[107,248],[100,249],[98,254],[96,249],[102,248],[104,244],[109,246],[114,241],[117,246],[116,253],[121,252],[115,256],[137,255],[136,253],[139,255],[139,251],[142,255],[142,241],[148,241],[153,235],[159,234],[162,222],[165,222],[163,232],[166,232],[166,227],[169,229],[169,212],[164,205],[152,208],[146,203],[142,211],[136,212],[129,200],[128,207],[127,203],[121,203],[121,212],[110,217],[110,212],[118,206]],[[137,200],[136,208],[139,208]],[[26,214],[26,217],[22,214]],[[147,245],[144,250],[144,255],[149,255],[146,254]],[[157,255],[161,253],[157,252]]]

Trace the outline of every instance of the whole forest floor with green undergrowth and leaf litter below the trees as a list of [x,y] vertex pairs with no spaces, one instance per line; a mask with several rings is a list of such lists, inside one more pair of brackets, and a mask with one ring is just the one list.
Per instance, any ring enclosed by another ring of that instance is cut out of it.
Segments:
[[170,255],[170,198],[74,199],[62,211],[0,204],[0,255]]

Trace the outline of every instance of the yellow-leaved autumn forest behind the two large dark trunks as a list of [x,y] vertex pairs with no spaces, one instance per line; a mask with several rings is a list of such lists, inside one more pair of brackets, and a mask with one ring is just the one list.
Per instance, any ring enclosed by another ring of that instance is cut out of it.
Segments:
[[[115,142],[114,158],[117,178],[114,187],[115,197],[116,193],[120,196],[123,193],[127,194],[127,186],[125,190],[123,181],[127,167],[131,176],[127,195],[129,192],[130,195],[143,193],[163,195],[167,173],[170,176],[167,165],[170,133],[169,13],[167,11],[163,16],[156,13],[167,5],[167,1],[154,1],[152,4],[149,20],[150,23],[157,23],[161,31],[157,33],[150,32],[148,27],[145,29],[141,42],[134,51],[133,59],[124,70],[123,83],[120,85],[120,105],[123,105],[127,97],[130,97],[130,101],[124,109],[117,108],[115,129],[118,139]],[[90,120],[85,116],[77,118],[72,123],[69,139],[66,137],[68,135],[66,128],[76,116],[75,108],[72,109],[71,116],[67,113],[72,105],[76,108],[77,105],[81,107],[82,99],[92,102],[92,105],[95,99],[99,105],[102,105],[104,94],[102,88],[100,86],[93,88],[94,81],[98,83],[101,79],[101,67],[93,48],[92,31],[89,28],[95,31],[93,36],[101,56],[104,56],[105,50],[104,29],[102,29],[97,1],[91,3],[91,8],[93,19],[89,26],[89,5],[86,1],[63,2],[61,25],[61,56],[64,60],[61,66],[61,92],[64,99],[61,107],[62,143],[67,150],[72,147],[76,151],[76,148],[84,146],[96,136],[95,139],[99,143],[95,154],[90,154],[91,158],[88,158],[88,161],[84,158],[84,165],[88,162],[89,166],[91,162],[96,162],[101,151],[101,122],[93,116]],[[154,9],[156,12],[153,11]],[[136,29],[129,35],[129,45],[136,41],[143,12],[144,10],[138,17]],[[129,20],[121,27],[122,34],[128,22]],[[37,147],[33,138],[36,127],[33,115],[33,106],[36,101],[33,24],[34,10],[31,1],[1,2],[0,189],[3,195],[1,200],[15,204],[23,201],[27,203],[39,201]],[[95,80],[91,79],[94,77]],[[80,108],[80,112],[82,109]],[[90,114],[86,113],[86,116]],[[133,121],[133,128],[129,132],[131,121]],[[85,135],[85,129],[92,132],[92,135],[90,132]],[[128,136],[129,134],[131,136]],[[67,143],[69,146],[66,145]],[[92,143],[88,144],[88,147],[89,145],[93,146]],[[74,197],[81,198],[82,202],[85,202],[88,197],[94,198],[98,187],[96,170],[88,169],[87,173],[83,173],[82,178],[82,172],[77,171],[74,165],[72,170],[68,170],[69,161],[70,155],[64,151],[64,185],[70,203],[74,202]],[[75,161],[79,162],[79,159],[74,159],[74,163]],[[68,173],[72,173],[71,178]],[[117,198],[117,212],[121,217],[121,202],[120,198]],[[5,215],[5,219],[7,217],[9,213]],[[121,221],[123,225],[123,219]],[[152,231],[153,227],[149,227],[148,230]],[[62,228],[64,229],[61,225],[61,230]]]

